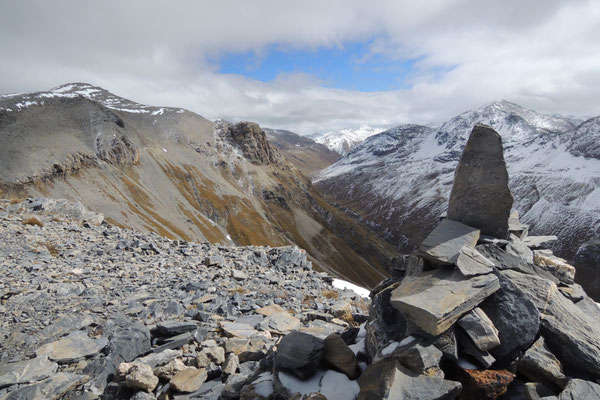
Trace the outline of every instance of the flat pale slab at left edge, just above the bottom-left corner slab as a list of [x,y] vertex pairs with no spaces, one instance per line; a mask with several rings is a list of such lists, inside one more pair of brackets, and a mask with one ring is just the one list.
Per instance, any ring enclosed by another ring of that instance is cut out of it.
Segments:
[[17,383],[32,383],[46,379],[56,372],[58,364],[48,356],[0,365],[0,388]]

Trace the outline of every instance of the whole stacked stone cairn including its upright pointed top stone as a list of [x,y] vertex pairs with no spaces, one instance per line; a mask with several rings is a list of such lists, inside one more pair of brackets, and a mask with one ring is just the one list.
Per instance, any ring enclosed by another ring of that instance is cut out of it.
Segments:
[[512,202],[476,125],[447,218],[371,293],[359,399],[600,399],[600,308]]

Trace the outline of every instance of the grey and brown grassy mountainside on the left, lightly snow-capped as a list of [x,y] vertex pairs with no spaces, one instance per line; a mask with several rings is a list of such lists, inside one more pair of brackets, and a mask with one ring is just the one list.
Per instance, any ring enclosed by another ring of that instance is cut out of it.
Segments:
[[80,201],[119,227],[305,249],[373,286],[393,247],[325,202],[254,123],[213,123],[88,84],[0,98],[0,196]]

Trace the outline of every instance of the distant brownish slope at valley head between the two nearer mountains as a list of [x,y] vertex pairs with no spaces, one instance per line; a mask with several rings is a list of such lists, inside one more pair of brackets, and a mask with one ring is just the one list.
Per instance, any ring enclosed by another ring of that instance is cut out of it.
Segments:
[[285,158],[305,175],[327,168],[340,158],[340,154],[325,145],[280,129],[264,129],[269,143],[274,145]]

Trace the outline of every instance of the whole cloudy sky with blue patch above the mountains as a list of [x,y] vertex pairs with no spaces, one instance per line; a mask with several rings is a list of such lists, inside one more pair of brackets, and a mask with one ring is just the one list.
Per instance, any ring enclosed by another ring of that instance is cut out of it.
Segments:
[[600,1],[0,0],[0,93],[87,82],[300,134],[600,115]]

